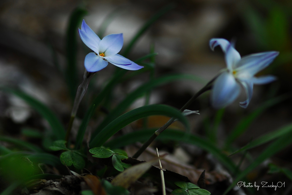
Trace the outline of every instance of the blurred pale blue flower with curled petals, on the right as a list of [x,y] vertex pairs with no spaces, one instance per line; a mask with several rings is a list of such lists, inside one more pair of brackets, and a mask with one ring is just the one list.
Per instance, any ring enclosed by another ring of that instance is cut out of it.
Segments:
[[271,64],[279,55],[279,52],[261,52],[241,58],[229,41],[223,38],[212,38],[210,40],[212,50],[218,45],[225,53],[227,69],[214,81],[211,104],[215,108],[223,108],[231,104],[239,96],[242,86],[247,99],[240,102],[239,105],[246,108],[253,95],[253,84],[262,85],[276,80],[276,77],[272,75],[258,78],[254,75]]

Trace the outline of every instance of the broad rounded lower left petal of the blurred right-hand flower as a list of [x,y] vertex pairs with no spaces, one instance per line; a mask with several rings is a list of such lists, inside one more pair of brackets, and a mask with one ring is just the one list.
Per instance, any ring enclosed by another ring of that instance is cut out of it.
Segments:
[[211,103],[215,108],[223,108],[231,104],[239,95],[240,85],[236,82],[232,74],[223,72],[215,80]]

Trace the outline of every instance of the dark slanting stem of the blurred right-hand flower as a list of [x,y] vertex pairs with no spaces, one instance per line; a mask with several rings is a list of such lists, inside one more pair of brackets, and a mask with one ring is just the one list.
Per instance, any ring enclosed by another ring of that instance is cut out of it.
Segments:
[[[213,81],[218,77],[215,76],[211,81],[209,81],[205,87],[203,87],[201,90],[199,90],[196,94],[194,94],[194,96],[192,96],[192,98],[187,101],[187,103],[185,103],[185,105],[180,108],[180,111],[183,112],[188,106],[190,106],[190,104],[197,99],[197,97],[199,97],[201,94],[203,94],[204,92],[208,91],[211,89],[212,87],[212,83]],[[160,133],[162,133],[167,127],[169,127],[173,122],[175,121],[175,118],[172,117],[168,122],[166,122],[162,127],[160,127],[157,131],[155,131],[153,133],[153,135],[142,145],[142,147],[140,147],[140,149],[133,155],[133,158],[137,159],[142,152],[144,152],[144,150],[146,150],[146,148],[155,140],[155,138],[157,138],[157,136],[159,136]]]

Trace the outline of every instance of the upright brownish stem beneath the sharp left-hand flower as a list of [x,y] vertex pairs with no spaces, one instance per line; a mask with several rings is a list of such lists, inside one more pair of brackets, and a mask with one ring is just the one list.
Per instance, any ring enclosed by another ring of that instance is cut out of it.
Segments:
[[71,111],[71,118],[70,118],[70,121],[69,121],[69,124],[68,124],[68,127],[67,127],[67,132],[66,132],[66,137],[65,137],[65,140],[67,142],[66,143],[67,146],[68,146],[68,140],[69,140],[69,136],[70,136],[70,133],[71,133],[72,125],[73,125],[77,110],[79,108],[79,104],[80,104],[82,98],[84,97],[84,95],[85,95],[85,93],[87,91],[89,81],[91,80],[92,76],[95,73],[96,72],[88,72],[88,71],[85,70],[84,76],[83,76],[83,81],[77,88],[77,92],[76,92],[76,96],[75,96],[75,99],[74,99],[73,108],[72,108],[72,111]]

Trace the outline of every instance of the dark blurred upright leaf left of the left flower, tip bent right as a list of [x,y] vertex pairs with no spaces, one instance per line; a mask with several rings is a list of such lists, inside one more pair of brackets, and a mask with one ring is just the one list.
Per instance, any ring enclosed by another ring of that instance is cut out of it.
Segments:
[[65,71],[65,77],[67,85],[69,88],[69,93],[72,99],[74,99],[77,85],[77,29],[81,24],[82,18],[86,15],[87,11],[82,8],[76,8],[69,20],[67,27],[67,36],[66,36],[66,52],[67,52],[67,67]]

